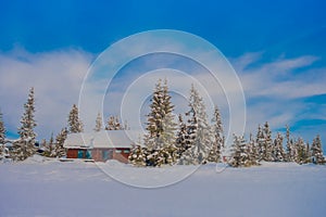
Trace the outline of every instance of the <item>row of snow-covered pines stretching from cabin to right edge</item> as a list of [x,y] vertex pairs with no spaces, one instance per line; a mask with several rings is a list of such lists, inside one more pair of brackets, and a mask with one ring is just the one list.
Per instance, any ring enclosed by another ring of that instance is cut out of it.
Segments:
[[268,123],[263,127],[259,126],[256,137],[250,135],[248,142],[243,136],[234,136],[230,150],[226,149],[218,107],[215,107],[213,118],[209,122],[203,99],[193,85],[190,89],[189,110],[179,114],[178,123],[175,123],[173,111],[167,81],[160,79],[151,98],[147,133],[141,144],[131,150],[131,164],[162,166],[226,162],[239,167],[260,165],[262,161],[325,163],[319,136],[310,145],[302,138],[290,138],[287,127],[287,143],[284,149],[284,137],[277,133],[273,139]]

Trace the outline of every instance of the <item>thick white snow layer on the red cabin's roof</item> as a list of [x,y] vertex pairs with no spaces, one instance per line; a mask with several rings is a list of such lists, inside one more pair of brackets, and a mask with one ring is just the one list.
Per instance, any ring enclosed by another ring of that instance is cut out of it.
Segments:
[[[71,133],[64,141],[64,148],[131,148],[137,141],[137,132],[125,130],[105,130],[99,132]],[[138,136],[139,137],[139,136]]]

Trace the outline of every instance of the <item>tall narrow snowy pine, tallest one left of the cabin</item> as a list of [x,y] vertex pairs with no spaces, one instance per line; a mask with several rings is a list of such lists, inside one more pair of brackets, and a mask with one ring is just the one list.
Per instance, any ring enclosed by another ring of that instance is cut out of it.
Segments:
[[20,139],[13,142],[13,149],[11,152],[11,157],[14,161],[24,161],[36,153],[35,139],[37,135],[34,131],[34,128],[36,127],[34,114],[34,88],[29,89],[28,99],[27,102],[24,104],[24,108],[25,112],[21,119],[22,126],[18,128]]

